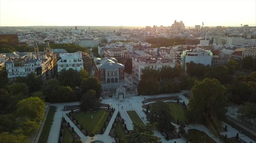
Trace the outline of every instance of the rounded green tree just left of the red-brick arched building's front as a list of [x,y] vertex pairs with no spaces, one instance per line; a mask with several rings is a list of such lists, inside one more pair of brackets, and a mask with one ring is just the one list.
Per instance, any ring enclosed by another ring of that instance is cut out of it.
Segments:
[[102,94],[102,85],[99,82],[99,79],[97,79],[96,77],[82,79],[81,86],[83,94],[86,93],[88,90],[96,91],[96,98],[99,98]]

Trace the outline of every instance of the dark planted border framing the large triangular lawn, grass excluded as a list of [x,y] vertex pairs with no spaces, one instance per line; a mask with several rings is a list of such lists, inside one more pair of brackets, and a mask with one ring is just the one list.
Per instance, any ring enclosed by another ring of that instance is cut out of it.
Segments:
[[[111,120],[111,118],[112,118],[112,116],[113,116],[113,113],[114,113],[114,111],[115,111],[115,109],[110,109],[110,110],[108,110],[108,109],[106,109],[106,108],[104,108],[105,110],[107,110],[107,111],[111,111],[110,112],[110,115],[111,116],[108,116],[108,118],[107,118],[107,120],[104,122],[105,123],[105,126],[103,126],[102,127],[102,133],[101,132],[95,132],[95,134],[104,134],[104,132],[105,132],[105,130],[107,129],[107,126],[108,126],[108,123],[109,123],[109,121]],[[80,110],[79,110],[80,111]],[[78,112],[79,112],[78,111]],[[113,111],[113,112],[112,112]],[[92,112],[96,112],[96,111],[92,111]],[[75,111],[74,111],[74,113],[75,113]],[[90,111],[86,111],[86,113],[90,113]],[[74,116],[73,115],[71,115],[71,112],[69,112],[68,114],[66,114],[67,115],[67,117],[68,118],[70,118],[70,120],[78,127],[78,129],[80,129],[80,131],[85,135],[85,136],[88,136],[89,135],[89,132],[86,130],[86,129],[84,129],[83,128],[83,126],[81,126],[81,124],[79,124],[79,123],[76,123],[77,122],[77,120],[74,118]]]

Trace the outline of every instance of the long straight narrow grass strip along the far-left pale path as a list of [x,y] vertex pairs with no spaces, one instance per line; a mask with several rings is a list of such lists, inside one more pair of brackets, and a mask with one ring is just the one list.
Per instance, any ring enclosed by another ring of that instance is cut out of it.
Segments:
[[44,123],[44,127],[41,133],[41,136],[39,138],[38,143],[47,143],[48,140],[48,136],[51,130],[51,126],[52,126],[52,120],[54,118],[54,114],[55,114],[55,106],[50,106],[48,115],[46,117],[45,123]]

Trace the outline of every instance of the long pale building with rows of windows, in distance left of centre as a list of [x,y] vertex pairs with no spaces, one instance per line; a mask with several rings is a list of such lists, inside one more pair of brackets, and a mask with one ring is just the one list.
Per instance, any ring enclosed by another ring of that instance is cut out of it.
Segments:
[[81,47],[93,48],[99,45],[99,38],[84,38],[76,40],[76,44]]

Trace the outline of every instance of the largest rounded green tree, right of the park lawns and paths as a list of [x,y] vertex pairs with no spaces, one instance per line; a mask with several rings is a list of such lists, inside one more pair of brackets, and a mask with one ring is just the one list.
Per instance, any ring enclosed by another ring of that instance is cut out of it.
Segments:
[[217,79],[204,79],[195,81],[191,89],[192,97],[189,99],[190,122],[201,122],[206,117],[220,118],[227,112],[227,97],[225,87]]

